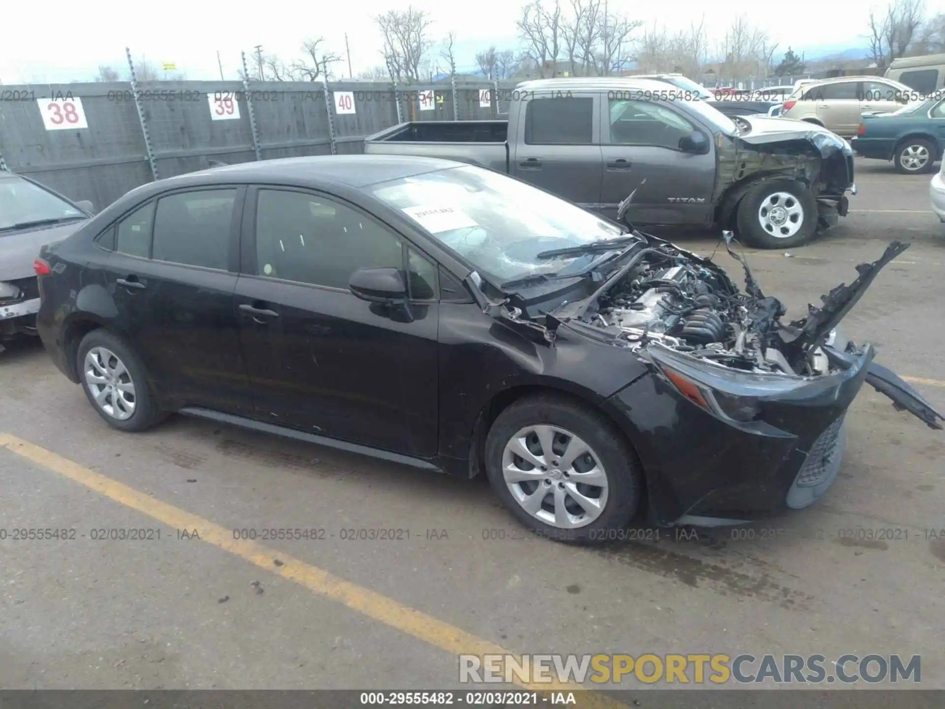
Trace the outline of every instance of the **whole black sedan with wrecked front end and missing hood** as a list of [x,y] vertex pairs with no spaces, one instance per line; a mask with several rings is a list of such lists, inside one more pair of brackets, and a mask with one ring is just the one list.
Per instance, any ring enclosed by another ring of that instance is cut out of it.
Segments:
[[273,160],[139,187],[44,248],[38,324],[115,428],[180,412],[485,473],[524,525],[586,543],[638,512],[736,524],[812,503],[865,381],[940,427],[835,330],[904,248],[782,322],[747,264],[743,292],[505,175]]

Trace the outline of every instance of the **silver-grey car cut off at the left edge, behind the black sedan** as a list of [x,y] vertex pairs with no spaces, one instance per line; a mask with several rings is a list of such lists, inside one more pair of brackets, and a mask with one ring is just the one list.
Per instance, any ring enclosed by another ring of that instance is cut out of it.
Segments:
[[73,202],[22,175],[0,170],[0,352],[17,335],[36,334],[40,292],[33,260],[92,216],[92,202]]

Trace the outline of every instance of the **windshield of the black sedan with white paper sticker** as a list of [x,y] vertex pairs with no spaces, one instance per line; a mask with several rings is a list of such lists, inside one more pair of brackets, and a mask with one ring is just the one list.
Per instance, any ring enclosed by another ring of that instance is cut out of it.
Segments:
[[585,271],[612,251],[537,256],[541,251],[610,240],[625,233],[563,199],[472,165],[381,182],[372,192],[496,285],[532,274]]

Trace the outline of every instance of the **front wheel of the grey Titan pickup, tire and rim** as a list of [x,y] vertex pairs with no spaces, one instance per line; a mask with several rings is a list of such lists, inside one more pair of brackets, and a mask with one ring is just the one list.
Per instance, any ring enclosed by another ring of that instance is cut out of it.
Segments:
[[761,182],[738,203],[738,233],[759,249],[806,244],[817,226],[817,202],[811,191],[793,180]]

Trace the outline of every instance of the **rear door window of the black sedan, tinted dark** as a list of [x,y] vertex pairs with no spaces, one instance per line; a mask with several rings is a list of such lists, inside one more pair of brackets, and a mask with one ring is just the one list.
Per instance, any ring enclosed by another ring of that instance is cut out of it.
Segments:
[[158,199],[151,257],[226,270],[235,200],[235,189],[197,190]]

